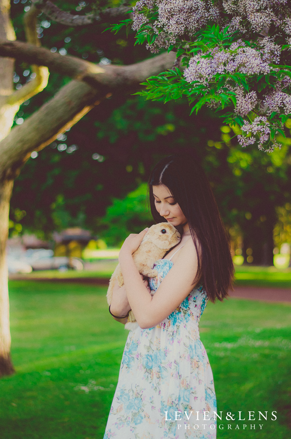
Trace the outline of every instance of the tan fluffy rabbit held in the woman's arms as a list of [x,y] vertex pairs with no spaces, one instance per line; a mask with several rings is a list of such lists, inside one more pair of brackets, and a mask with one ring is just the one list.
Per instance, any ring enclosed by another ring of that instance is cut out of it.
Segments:
[[[132,254],[139,273],[147,277],[156,277],[158,273],[156,270],[153,270],[153,264],[158,259],[162,259],[166,252],[178,244],[178,242],[180,242],[180,234],[172,224],[159,223],[149,227],[139,247]],[[109,281],[106,295],[109,305],[112,302],[113,287],[116,281],[119,287],[124,285],[120,264],[117,265]],[[134,330],[136,327],[138,327],[138,323],[133,312],[130,311],[125,329]]]

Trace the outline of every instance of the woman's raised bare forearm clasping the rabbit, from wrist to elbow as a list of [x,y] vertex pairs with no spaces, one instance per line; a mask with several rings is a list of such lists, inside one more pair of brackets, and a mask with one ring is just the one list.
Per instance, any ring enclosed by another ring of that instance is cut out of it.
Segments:
[[129,306],[135,315],[138,325],[143,328],[147,322],[152,296],[147,290],[140,273],[138,273],[138,269],[129,252],[123,254],[122,258],[120,258],[120,266]]

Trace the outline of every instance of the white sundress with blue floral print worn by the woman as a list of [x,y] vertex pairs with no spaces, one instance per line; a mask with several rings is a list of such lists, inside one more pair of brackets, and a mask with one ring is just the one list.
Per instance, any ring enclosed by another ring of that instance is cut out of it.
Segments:
[[[172,266],[156,261],[151,290]],[[129,332],[104,439],[216,438],[213,375],[198,330],[207,302],[195,288],[160,324]]]

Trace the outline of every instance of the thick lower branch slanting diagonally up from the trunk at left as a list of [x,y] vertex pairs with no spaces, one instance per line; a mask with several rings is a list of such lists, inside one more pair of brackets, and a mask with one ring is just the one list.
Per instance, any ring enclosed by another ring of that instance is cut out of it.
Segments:
[[79,81],[63,86],[0,142],[0,180],[14,179],[31,151],[40,151],[50,144],[109,95]]

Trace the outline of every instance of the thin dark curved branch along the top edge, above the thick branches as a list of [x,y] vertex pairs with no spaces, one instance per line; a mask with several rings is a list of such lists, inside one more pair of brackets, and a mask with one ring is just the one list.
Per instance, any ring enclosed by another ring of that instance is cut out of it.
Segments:
[[[107,23],[112,18],[119,19],[123,18],[128,11],[132,11],[132,7],[120,6],[112,7],[100,11],[98,15],[88,14],[88,15],[75,15],[69,12],[62,11],[51,1],[46,0],[32,0],[32,3],[40,9],[44,14],[51,18],[51,20],[61,23],[65,26],[76,27],[76,26],[86,26],[94,23]],[[128,15],[128,14],[127,14]]]

